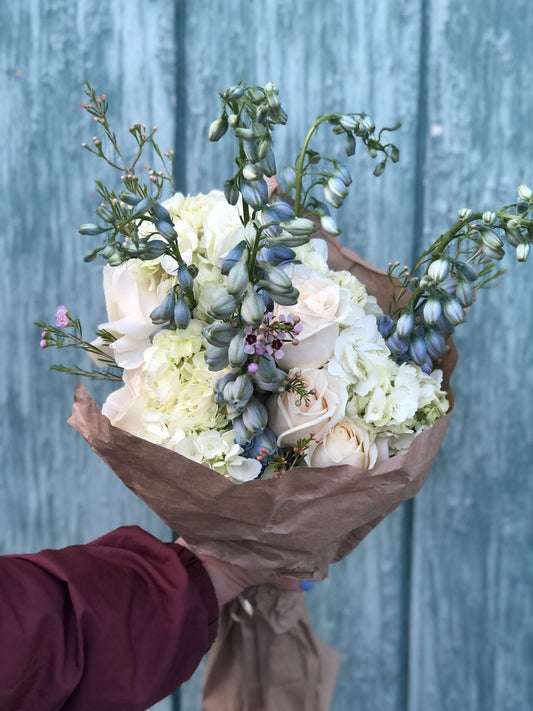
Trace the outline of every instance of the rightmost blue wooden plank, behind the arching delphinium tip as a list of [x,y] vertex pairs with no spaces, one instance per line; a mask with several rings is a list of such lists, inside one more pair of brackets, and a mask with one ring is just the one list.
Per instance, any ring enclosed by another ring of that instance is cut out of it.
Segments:
[[[426,243],[533,184],[533,6],[428,10]],[[456,412],[415,501],[411,711],[533,708],[533,265],[504,265],[457,332]]]

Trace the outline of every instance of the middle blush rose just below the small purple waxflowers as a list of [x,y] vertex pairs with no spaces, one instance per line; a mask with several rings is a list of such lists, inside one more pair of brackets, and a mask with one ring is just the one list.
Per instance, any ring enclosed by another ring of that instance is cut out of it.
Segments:
[[306,368],[289,371],[297,376],[309,392],[308,398],[294,392],[273,395],[267,402],[268,426],[277,437],[278,446],[295,445],[299,438],[322,437],[344,417],[348,394],[340,378],[325,370]]

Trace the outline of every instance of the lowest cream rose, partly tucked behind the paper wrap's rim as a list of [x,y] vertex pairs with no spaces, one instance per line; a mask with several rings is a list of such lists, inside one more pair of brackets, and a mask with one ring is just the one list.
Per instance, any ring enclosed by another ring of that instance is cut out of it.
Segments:
[[369,430],[361,422],[343,417],[322,438],[310,459],[312,467],[350,464],[357,469],[370,469],[378,458],[378,448]]

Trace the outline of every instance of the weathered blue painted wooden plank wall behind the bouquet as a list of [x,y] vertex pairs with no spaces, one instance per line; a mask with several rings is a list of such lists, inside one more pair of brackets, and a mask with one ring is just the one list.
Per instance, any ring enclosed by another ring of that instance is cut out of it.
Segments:
[[[206,131],[241,78],[280,88],[279,164],[319,112],[400,120],[400,163],[376,180],[357,157],[341,217],[345,243],[384,267],[457,209],[533,186],[532,36],[530,0],[0,0],[1,552],[131,523],[170,536],[66,425],[74,382],[48,371],[32,325],[58,303],[87,333],[104,320],[77,236],[102,175],[80,147],[85,78],[124,134],[158,124],[191,193],[228,172]],[[533,265],[506,266],[458,331],[456,412],[423,491],[308,593],[343,653],[335,711],[533,708]],[[158,709],[198,711],[200,686]]]

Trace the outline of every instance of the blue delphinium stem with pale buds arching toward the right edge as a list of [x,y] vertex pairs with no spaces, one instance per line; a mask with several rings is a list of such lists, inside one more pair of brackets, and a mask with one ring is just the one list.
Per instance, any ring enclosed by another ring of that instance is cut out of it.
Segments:
[[[389,276],[398,281],[404,293],[412,296],[396,322],[389,316],[380,319],[380,332],[399,363],[412,360],[430,372],[446,350],[445,339],[466,318],[466,310],[475,301],[475,291],[501,271],[495,262],[505,254],[505,242],[516,249],[518,261],[525,261],[533,242],[533,193],[518,187],[519,202],[504,211],[473,214],[459,211],[459,222],[426,252],[426,270],[420,277],[407,271],[394,274],[398,263],[389,266]],[[513,209],[515,212],[513,212]],[[448,251],[457,243],[455,256]],[[467,245],[465,247],[465,245]]]

